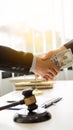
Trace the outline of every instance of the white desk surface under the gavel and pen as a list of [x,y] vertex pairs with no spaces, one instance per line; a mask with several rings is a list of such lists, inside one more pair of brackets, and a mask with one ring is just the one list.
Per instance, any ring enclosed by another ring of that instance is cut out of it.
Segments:
[[[18,96],[19,95],[19,96]],[[22,98],[21,92],[13,91],[0,97],[0,102],[5,102],[11,98],[19,100]],[[13,121],[16,110],[0,111],[1,130],[73,130],[73,81],[56,81],[54,88],[43,90],[43,94],[37,96],[42,102],[44,98],[63,97],[63,99],[46,109],[52,115],[48,121],[33,124],[21,124]]]

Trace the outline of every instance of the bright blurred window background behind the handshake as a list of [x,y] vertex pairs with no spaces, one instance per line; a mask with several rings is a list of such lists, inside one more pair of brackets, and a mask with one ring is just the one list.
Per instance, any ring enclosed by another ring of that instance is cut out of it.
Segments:
[[[0,0],[0,45],[42,54],[71,39],[73,0]],[[73,66],[61,70],[56,80],[73,80],[72,75]],[[15,76],[21,75],[0,71],[0,87]]]

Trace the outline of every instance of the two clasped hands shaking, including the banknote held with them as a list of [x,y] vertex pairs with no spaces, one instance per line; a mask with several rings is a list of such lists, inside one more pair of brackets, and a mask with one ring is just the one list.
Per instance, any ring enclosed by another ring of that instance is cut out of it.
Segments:
[[54,80],[61,69],[70,67],[72,64],[73,55],[71,49],[66,49],[63,46],[45,55],[37,56],[34,73],[36,77],[41,76],[46,81]]

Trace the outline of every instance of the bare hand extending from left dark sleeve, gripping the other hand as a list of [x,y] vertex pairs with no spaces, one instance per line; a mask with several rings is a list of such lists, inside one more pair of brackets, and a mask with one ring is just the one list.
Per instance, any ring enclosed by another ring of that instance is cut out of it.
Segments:
[[54,55],[53,52],[49,52],[46,55],[37,56],[34,70],[36,76],[41,76],[45,80],[53,80],[58,74],[60,68],[51,61],[52,55]]

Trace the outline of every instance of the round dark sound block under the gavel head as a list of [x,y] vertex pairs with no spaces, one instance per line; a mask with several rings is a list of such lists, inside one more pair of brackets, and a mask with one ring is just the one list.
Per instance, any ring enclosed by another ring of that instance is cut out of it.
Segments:
[[45,110],[37,110],[33,112],[24,113],[16,113],[14,116],[14,121],[18,123],[38,123],[51,119],[51,114]]

